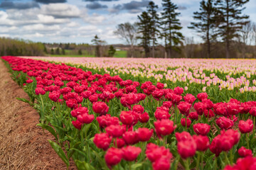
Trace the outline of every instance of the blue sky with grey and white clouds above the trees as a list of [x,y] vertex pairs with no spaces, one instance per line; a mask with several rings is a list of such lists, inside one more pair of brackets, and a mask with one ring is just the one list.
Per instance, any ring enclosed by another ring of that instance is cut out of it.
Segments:
[[[187,28],[201,0],[173,0],[178,5],[182,33],[200,42]],[[154,1],[161,11],[161,0]],[[97,34],[108,44],[122,43],[113,34],[119,23],[137,21],[148,0],[0,0],[0,36],[35,42],[91,43]],[[256,0],[246,4],[244,13],[256,22]]]

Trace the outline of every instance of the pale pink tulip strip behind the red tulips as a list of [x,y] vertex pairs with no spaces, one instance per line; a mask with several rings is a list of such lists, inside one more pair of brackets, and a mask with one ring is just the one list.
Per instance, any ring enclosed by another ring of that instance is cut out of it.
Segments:
[[252,60],[28,58],[77,64],[95,74],[119,74],[122,79],[133,77],[140,83],[146,79],[154,83],[161,81],[171,84],[169,88],[182,86],[193,95],[199,91],[206,91],[209,96],[218,93],[220,98],[215,102],[228,101],[227,93],[242,101],[252,100],[255,96],[241,98],[240,94],[256,91],[256,65]]

